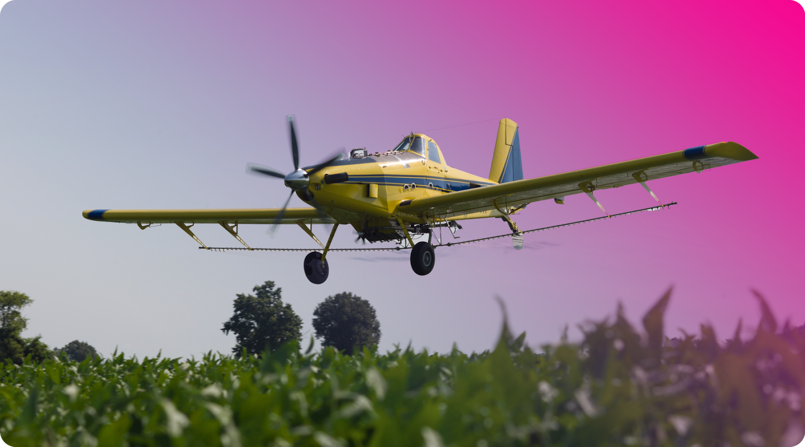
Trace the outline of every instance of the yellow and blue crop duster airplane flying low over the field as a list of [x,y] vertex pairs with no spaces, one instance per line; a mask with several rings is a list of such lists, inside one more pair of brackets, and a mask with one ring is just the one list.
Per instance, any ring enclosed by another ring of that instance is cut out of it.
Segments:
[[[418,275],[427,275],[436,265],[434,248],[451,245],[441,243],[436,228],[447,228],[455,237],[456,230],[461,228],[459,220],[500,218],[509,224],[514,248],[520,249],[524,232],[513,216],[529,203],[553,199],[564,204],[568,195],[584,193],[609,216],[594,191],[640,183],[660,203],[646,184],[648,180],[758,158],[744,146],[730,141],[526,179],[522,175],[519,126],[503,118],[497,128],[492,165],[486,178],[449,166],[440,146],[424,133],[411,133],[386,152],[370,153],[358,148],[351,150],[349,157],[338,154],[317,165],[299,168],[294,117],[290,115],[287,120],[294,170],[283,174],[267,166],[246,166],[247,172],[283,178],[291,193],[282,208],[93,209],[85,210],[83,215],[101,222],[137,223],[143,230],[152,225],[175,223],[200,244],[199,248],[208,250],[218,248],[207,247],[190,230],[196,223],[218,223],[245,246],[221,249],[306,251],[251,248],[237,234],[239,224],[268,223],[270,236],[274,236],[280,224],[296,224],[322,248],[309,252],[303,262],[308,280],[322,284],[329,275],[328,252],[372,249],[330,248],[339,225],[352,225],[364,244],[395,242],[397,248],[382,249],[411,249],[411,269]],[[293,195],[310,206],[289,208]],[[660,203],[660,206],[667,205]],[[326,244],[312,232],[314,224],[332,224]],[[427,236],[427,242],[414,243],[423,236]],[[432,244],[435,237],[439,244]]]

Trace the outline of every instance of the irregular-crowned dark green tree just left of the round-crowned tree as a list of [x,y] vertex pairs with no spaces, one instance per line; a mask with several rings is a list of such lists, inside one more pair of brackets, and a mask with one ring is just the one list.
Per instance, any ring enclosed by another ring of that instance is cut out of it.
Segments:
[[266,348],[276,351],[283,343],[302,337],[302,318],[290,304],[283,304],[283,289],[274,286],[274,281],[266,281],[252,289],[256,297],[236,295],[235,313],[221,329],[224,334],[235,334],[237,344],[232,348],[235,355],[241,355],[244,348],[249,354],[260,354]]

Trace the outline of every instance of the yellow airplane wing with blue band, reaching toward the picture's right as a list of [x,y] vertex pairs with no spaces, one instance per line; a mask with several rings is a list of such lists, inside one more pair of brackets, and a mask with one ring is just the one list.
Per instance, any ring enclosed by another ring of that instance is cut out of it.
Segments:
[[731,141],[720,142],[564,174],[405,200],[399,203],[394,212],[400,215],[427,214],[442,219],[467,219],[477,217],[472,214],[482,211],[522,207],[527,203],[559,199],[582,192],[592,196],[592,191],[596,190],[617,188],[637,182],[645,185],[647,180],[655,178],[701,172],[716,166],[755,158],[758,156],[744,146]]

